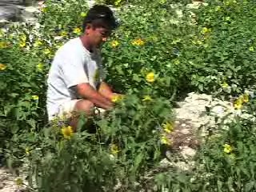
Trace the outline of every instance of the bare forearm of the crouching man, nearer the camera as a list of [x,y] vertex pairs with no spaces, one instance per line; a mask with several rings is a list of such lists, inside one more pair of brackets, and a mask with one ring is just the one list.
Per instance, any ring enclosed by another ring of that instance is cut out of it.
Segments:
[[104,97],[94,87],[90,86],[89,83],[81,83],[76,86],[78,94],[90,102],[93,102],[95,106],[99,106],[105,110],[110,109],[113,104],[110,98]]

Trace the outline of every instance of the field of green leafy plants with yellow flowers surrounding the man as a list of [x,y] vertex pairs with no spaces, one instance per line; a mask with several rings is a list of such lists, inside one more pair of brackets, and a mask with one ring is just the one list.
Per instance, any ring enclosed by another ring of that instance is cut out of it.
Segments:
[[[120,22],[102,48],[106,80],[125,97],[103,116],[80,118],[75,133],[66,119],[47,122],[46,78],[55,51],[82,34],[86,0],[47,0],[38,23],[0,30],[0,154],[16,174],[26,165],[18,184],[39,192],[256,191],[255,1],[101,3]],[[191,91],[230,107],[200,137],[190,170],[162,169],[173,109]]]

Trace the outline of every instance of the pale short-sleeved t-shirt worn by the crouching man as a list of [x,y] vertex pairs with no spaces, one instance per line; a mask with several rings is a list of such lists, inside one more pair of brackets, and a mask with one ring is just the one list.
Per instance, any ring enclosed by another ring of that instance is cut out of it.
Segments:
[[80,38],[66,42],[54,56],[47,80],[47,112],[51,119],[58,113],[62,103],[78,99],[79,95],[70,89],[80,83],[90,83],[94,89],[102,81],[102,61],[98,50],[90,53]]

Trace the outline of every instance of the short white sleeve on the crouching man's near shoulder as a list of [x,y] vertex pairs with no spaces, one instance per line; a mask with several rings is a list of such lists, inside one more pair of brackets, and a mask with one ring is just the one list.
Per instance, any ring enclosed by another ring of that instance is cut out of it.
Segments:
[[89,82],[85,65],[86,61],[83,60],[79,53],[68,53],[62,59],[60,67],[63,74],[63,80],[68,89],[71,86]]

